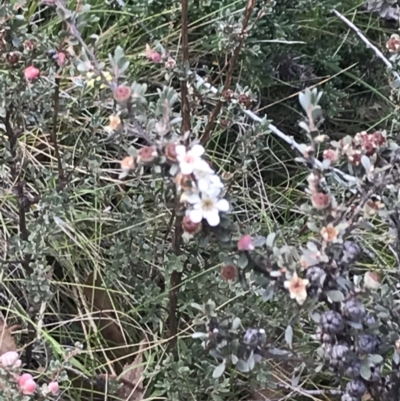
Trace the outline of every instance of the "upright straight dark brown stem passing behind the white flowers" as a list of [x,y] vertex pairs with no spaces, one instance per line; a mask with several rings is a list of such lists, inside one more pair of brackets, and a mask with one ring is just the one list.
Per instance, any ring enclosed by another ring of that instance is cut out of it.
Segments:
[[[188,9],[189,1],[181,0],[182,4],[182,64],[185,65],[189,62],[189,33],[188,33]],[[187,77],[186,77],[187,78]],[[181,81],[181,102],[182,102],[182,125],[181,133],[190,131],[190,104],[188,97],[187,79]],[[179,208],[179,199],[176,198],[175,202],[175,222],[174,233],[172,238],[172,247],[174,253],[179,255],[181,253],[181,238],[182,238],[182,217],[177,213]],[[176,344],[176,336],[178,333],[178,292],[179,286],[182,282],[182,273],[174,270],[170,278],[170,292],[169,292],[169,336],[171,338],[170,346],[174,347]]]

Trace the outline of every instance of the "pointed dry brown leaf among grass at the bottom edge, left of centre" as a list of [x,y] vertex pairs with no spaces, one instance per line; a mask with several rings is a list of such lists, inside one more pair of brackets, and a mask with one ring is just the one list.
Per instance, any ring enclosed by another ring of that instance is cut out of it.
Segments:
[[140,385],[143,374],[143,350],[147,341],[142,340],[139,346],[139,353],[130,365],[124,366],[124,372],[121,378],[123,386],[118,391],[118,396],[124,401],[143,400],[144,391]]

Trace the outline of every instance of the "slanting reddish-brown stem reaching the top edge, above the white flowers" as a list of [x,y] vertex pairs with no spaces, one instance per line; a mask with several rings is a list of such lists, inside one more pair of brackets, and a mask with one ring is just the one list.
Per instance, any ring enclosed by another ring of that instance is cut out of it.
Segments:
[[[235,48],[235,50],[233,52],[232,58],[229,61],[229,69],[228,69],[228,72],[226,74],[223,91],[228,90],[230,88],[230,86],[231,86],[233,72],[235,70],[236,63],[237,63],[237,60],[239,58],[240,51],[242,50],[244,41],[245,41],[245,39],[247,37],[247,27],[249,25],[250,17],[251,17],[251,14],[253,13],[254,7],[255,7],[255,0],[248,0],[247,1],[247,5],[246,5],[246,10],[244,12],[242,31],[240,33],[240,41],[239,41],[239,44],[237,45],[237,47]],[[205,145],[208,142],[208,140],[210,139],[211,130],[213,129],[215,120],[217,119],[218,114],[222,109],[222,105],[223,105],[223,101],[222,100],[218,100],[218,102],[215,105],[213,111],[211,112],[208,124],[207,124],[206,128],[204,129],[204,134],[200,138],[200,143],[202,145]]]

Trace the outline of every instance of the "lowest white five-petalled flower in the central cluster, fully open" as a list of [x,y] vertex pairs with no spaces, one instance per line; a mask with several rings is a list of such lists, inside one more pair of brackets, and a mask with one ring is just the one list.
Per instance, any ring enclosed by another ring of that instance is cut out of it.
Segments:
[[192,204],[192,209],[186,212],[190,220],[193,223],[200,223],[204,218],[212,227],[217,226],[220,222],[219,212],[227,212],[229,210],[229,203],[226,199],[218,199],[205,193],[201,197],[198,194],[190,194],[187,196],[186,201]]

